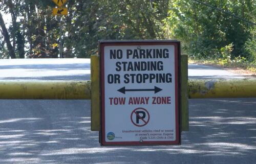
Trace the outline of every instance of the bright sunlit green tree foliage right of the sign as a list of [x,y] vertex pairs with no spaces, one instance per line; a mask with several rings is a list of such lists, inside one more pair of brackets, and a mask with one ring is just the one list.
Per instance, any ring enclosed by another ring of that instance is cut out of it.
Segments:
[[[251,1],[204,2],[248,20],[256,16],[256,4]],[[175,0],[170,4],[169,14],[164,22],[166,37],[181,40],[183,50],[196,58],[222,57],[223,48],[230,43],[233,44],[231,58],[249,56],[244,51],[244,46],[250,38],[248,31],[254,27],[218,10],[195,1]]]

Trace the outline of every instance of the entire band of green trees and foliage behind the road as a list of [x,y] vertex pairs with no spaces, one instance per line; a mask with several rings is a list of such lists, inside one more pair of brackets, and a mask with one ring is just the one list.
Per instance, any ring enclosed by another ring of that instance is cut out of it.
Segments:
[[[203,2],[256,21],[253,1]],[[104,39],[178,39],[183,53],[195,59],[256,61],[255,26],[193,0],[72,0],[61,21],[52,16],[54,7],[50,0],[0,2],[0,11],[12,15],[9,33],[17,57],[25,52],[30,58],[57,58],[61,24],[65,57],[88,58]],[[4,44],[0,51],[6,53]]]

